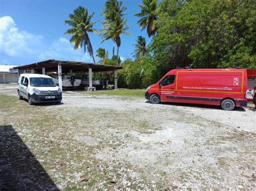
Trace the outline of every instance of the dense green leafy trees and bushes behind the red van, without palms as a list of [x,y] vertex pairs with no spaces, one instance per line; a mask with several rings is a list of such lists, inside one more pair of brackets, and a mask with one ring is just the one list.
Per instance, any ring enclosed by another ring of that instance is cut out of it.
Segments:
[[[150,2],[143,0],[142,15]],[[160,1],[149,54],[123,62],[118,86],[145,88],[176,67],[256,68],[255,10],[252,0]]]

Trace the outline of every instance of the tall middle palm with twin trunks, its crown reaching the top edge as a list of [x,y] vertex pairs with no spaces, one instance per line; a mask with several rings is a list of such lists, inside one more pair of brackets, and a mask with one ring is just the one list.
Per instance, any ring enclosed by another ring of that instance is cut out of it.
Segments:
[[117,58],[119,54],[119,47],[121,46],[121,38],[120,34],[131,34],[126,32],[130,28],[130,26],[126,25],[126,20],[124,20],[123,16],[125,15],[123,12],[127,8],[122,6],[122,1],[118,0],[107,0],[105,3],[105,8],[103,9],[102,16],[105,17],[103,21],[103,30],[100,36],[103,38],[102,43],[105,40],[111,39],[113,41],[113,56],[114,58],[114,46],[117,44]]

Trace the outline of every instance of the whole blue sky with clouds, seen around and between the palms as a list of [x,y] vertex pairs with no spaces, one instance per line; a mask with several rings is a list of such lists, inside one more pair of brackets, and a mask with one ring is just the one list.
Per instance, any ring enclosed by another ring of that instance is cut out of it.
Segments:
[[[79,5],[85,6],[89,13],[95,12],[93,21],[100,20],[94,25],[95,29],[102,29],[103,17],[100,16],[104,8],[104,0],[0,0],[0,65],[24,65],[32,62],[59,59],[92,62],[89,54],[82,49],[73,49],[69,43],[70,36],[64,35],[69,29],[64,24],[69,14]],[[132,25],[131,36],[122,35],[119,54],[122,59],[132,58],[134,50],[132,44],[137,36],[147,39],[146,30],[141,31],[137,24],[138,17],[134,13],[140,12],[138,4],[141,0],[123,0],[127,7],[127,25]],[[103,47],[112,56],[111,40],[100,44],[98,33],[89,34],[93,52]],[[96,62],[99,59],[96,58]]]

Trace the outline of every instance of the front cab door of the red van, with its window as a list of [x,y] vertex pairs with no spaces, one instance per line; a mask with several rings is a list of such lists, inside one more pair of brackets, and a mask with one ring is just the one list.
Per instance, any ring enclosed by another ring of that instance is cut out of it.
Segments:
[[160,84],[160,98],[162,102],[176,102],[175,97],[176,75],[166,75]]

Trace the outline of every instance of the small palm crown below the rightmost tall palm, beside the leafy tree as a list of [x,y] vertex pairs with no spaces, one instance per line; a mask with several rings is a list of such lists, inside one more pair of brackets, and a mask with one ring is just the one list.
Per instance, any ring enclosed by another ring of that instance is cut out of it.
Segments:
[[145,59],[146,55],[149,53],[146,46],[146,39],[142,36],[138,36],[136,39],[137,44],[133,44],[135,46],[135,50],[132,52],[134,55],[133,57],[138,59]]

